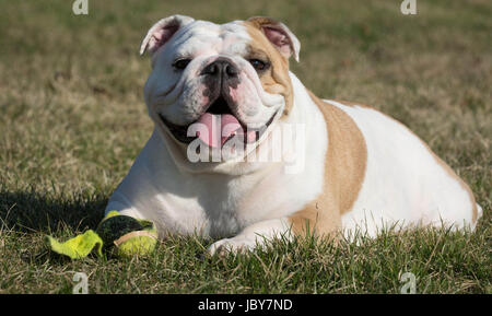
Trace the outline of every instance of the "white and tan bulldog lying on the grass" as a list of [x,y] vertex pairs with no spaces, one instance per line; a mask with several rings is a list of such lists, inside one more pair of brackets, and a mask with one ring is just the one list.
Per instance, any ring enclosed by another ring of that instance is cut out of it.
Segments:
[[106,212],[154,221],[162,237],[219,239],[210,254],[307,229],[473,229],[481,215],[469,187],[403,125],[311,93],[289,71],[300,43],[282,23],[173,15],[150,28],[145,50],[155,129]]

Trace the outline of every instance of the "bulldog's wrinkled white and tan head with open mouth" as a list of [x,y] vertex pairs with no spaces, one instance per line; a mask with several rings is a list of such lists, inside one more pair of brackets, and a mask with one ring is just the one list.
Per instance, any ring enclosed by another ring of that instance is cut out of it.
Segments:
[[298,59],[300,43],[272,19],[218,25],[173,15],[149,30],[145,50],[149,114],[180,164],[190,145],[226,150],[219,163],[244,159],[293,105],[289,58]]

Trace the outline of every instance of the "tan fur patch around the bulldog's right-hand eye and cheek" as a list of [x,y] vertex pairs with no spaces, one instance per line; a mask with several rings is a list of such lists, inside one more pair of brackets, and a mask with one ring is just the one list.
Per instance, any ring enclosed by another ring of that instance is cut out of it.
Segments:
[[281,94],[285,98],[285,107],[283,116],[289,115],[293,104],[292,82],[289,77],[289,60],[284,58],[279,50],[268,40],[261,31],[261,24],[269,20],[255,19],[245,21],[251,42],[249,43],[249,51],[247,59],[262,59],[268,57],[271,66],[259,79],[263,90],[271,94]]

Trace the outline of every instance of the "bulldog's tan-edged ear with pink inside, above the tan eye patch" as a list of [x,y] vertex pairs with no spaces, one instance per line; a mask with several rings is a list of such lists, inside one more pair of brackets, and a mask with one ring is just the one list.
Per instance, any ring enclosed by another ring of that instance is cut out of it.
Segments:
[[253,16],[246,22],[259,28],[283,57],[289,59],[294,56],[295,61],[298,61],[301,43],[285,24],[266,16]]

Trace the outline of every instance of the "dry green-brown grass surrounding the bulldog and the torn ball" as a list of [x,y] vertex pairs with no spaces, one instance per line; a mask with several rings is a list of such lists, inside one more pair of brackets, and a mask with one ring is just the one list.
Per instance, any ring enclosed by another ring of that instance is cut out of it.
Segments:
[[[0,0],[0,293],[492,293],[492,4],[418,1]],[[176,237],[150,258],[69,261],[44,234],[94,229],[152,131],[138,56],[156,20],[270,15],[302,44],[293,71],[317,95],[373,105],[409,126],[470,186],[484,215],[473,233],[387,232],[360,245],[279,242],[251,256],[202,258]]]

